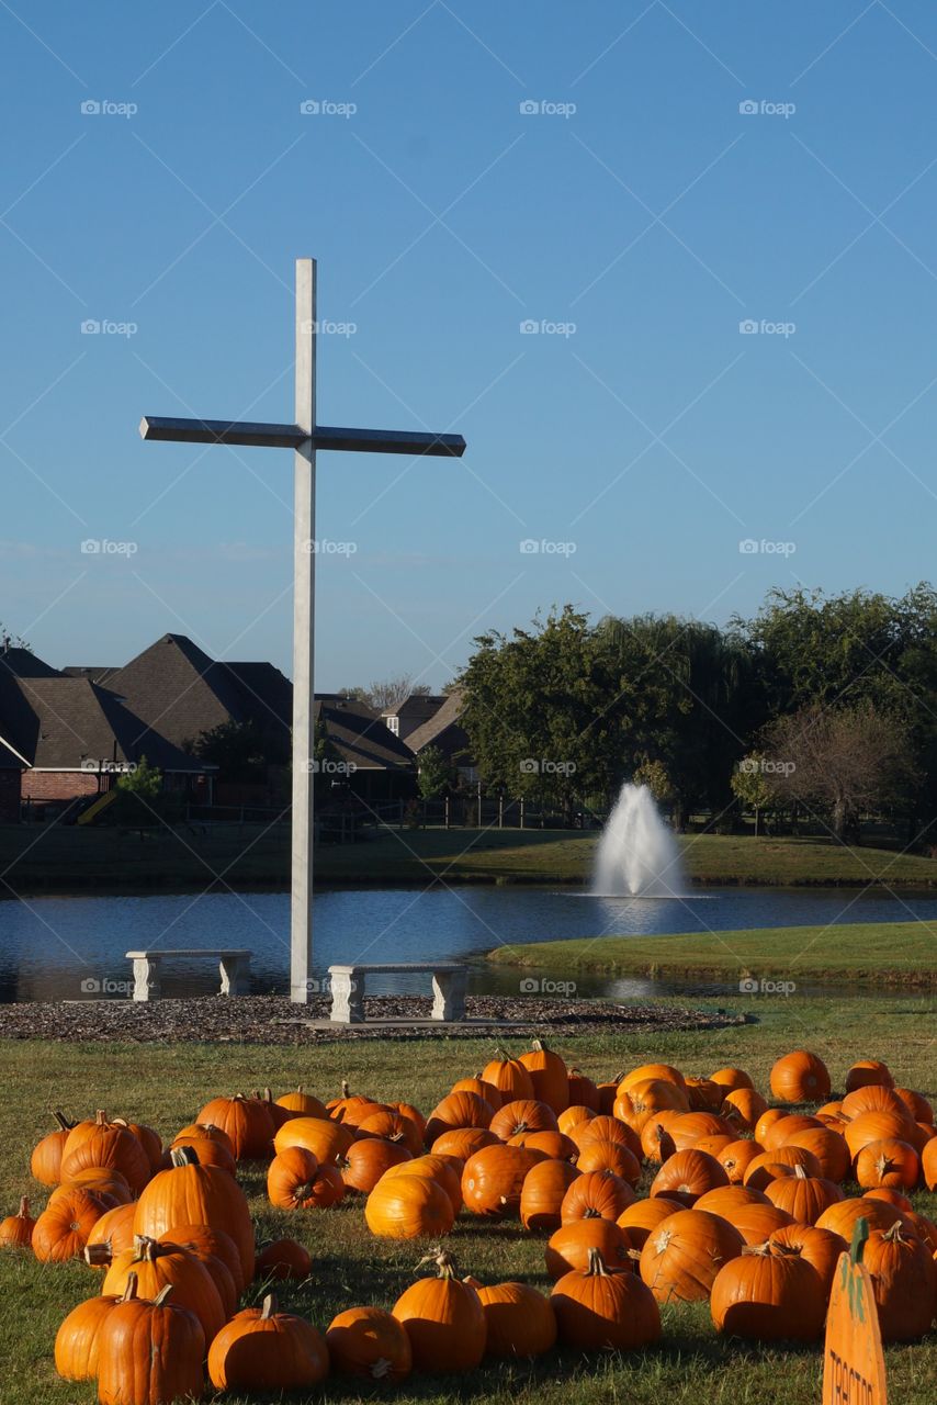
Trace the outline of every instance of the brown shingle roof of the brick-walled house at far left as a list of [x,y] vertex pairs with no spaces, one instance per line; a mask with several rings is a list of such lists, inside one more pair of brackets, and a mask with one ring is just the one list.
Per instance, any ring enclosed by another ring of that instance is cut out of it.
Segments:
[[139,762],[146,756],[163,771],[204,769],[89,679],[20,679],[15,687],[22,704],[15,732],[1,715],[0,729],[35,767],[77,770],[86,759]]

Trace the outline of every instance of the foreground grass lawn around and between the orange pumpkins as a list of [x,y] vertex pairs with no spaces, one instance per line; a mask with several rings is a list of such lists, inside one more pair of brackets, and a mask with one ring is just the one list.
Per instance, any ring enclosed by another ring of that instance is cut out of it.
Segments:
[[[510,1041],[509,1041],[510,1043]],[[653,1037],[568,1040],[561,1052],[596,1076],[649,1058],[666,1059],[687,1072],[711,1072],[725,1064],[750,1071],[767,1086],[774,1058],[791,1047],[809,1044],[829,1064],[834,1086],[861,1055],[885,1058],[899,1083],[937,1093],[933,1010],[915,995],[861,1000],[773,1000],[764,1003],[759,1024],[716,1031]],[[0,1058],[4,1097],[0,1100],[0,1198],[13,1208],[31,1186],[27,1173],[32,1144],[48,1130],[49,1110],[65,1107],[86,1114],[94,1107],[132,1113],[164,1134],[188,1121],[215,1093],[271,1083],[277,1090],[303,1082],[320,1096],[337,1090],[347,1076],[353,1089],[376,1097],[406,1097],[428,1109],[454,1078],[476,1071],[492,1054],[489,1041],[365,1043],[284,1050],[239,1045],[184,1044],[173,1047],[69,1045],[7,1043]],[[294,1234],[315,1259],[312,1279],[285,1286],[285,1307],[327,1326],[334,1312],[360,1302],[392,1305],[412,1281],[421,1255],[416,1243],[393,1245],[369,1236],[360,1203],[329,1211],[287,1215],[271,1211],[261,1173],[243,1175],[261,1236]],[[937,1196],[919,1193],[917,1208],[937,1214]],[[517,1277],[548,1287],[542,1272],[544,1235],[528,1235],[517,1224],[479,1222],[461,1217],[447,1246],[461,1270],[485,1281]],[[52,1343],[70,1307],[89,1295],[98,1280],[79,1264],[41,1266],[35,1260],[0,1256],[0,1398],[4,1405],[91,1405],[89,1387],[59,1381],[52,1367]],[[251,1298],[261,1295],[260,1286]],[[888,1353],[891,1398],[900,1405],[933,1405],[937,1380],[937,1335]],[[663,1309],[659,1347],[634,1356],[584,1359],[566,1347],[534,1366],[496,1366],[454,1378],[414,1375],[395,1392],[399,1401],[548,1402],[593,1405],[662,1401],[698,1405],[816,1405],[819,1347],[745,1347],[715,1338],[705,1305]],[[332,1377],[322,1392],[327,1401],[374,1399]],[[240,1398],[237,1405],[246,1405]]]

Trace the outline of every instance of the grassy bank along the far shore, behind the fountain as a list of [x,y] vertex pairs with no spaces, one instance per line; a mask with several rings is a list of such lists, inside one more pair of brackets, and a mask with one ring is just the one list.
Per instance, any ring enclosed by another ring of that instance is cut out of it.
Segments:
[[[17,892],[118,888],[287,887],[288,826],[181,826],[124,832],[74,826],[0,829],[0,873]],[[381,839],[322,846],[320,884],[445,882],[584,885],[597,836],[568,830],[393,830]],[[937,861],[889,849],[847,849],[825,839],[691,835],[683,839],[691,882],[709,887],[937,887]]]

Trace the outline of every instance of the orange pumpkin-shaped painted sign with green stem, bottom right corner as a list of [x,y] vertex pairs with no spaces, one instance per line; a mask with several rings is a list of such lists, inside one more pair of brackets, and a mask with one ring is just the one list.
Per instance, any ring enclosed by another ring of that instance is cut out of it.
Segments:
[[878,1308],[863,1249],[868,1221],[860,1220],[848,1253],[840,1255],[826,1315],[823,1405],[886,1405],[885,1357]]

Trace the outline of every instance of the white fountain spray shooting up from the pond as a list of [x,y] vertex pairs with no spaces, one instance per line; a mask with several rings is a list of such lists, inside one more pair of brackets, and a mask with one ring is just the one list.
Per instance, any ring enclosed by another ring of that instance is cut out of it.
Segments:
[[598,842],[591,891],[601,898],[679,898],[688,891],[680,847],[646,785],[621,787]]

